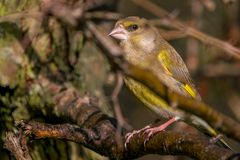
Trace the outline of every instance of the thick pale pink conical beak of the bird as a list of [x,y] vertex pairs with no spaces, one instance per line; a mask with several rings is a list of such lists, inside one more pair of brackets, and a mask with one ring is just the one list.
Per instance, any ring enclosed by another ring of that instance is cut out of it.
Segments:
[[128,37],[127,32],[122,25],[115,26],[108,35],[120,40],[126,40]]

